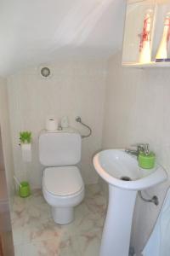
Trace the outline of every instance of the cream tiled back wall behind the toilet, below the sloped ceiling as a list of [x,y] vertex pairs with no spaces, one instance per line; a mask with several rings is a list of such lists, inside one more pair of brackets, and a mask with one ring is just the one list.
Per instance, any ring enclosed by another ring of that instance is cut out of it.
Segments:
[[[101,148],[105,64],[105,61],[59,61],[51,65],[51,79],[42,79],[37,67],[8,78],[14,172],[20,179],[28,178],[32,187],[41,185],[37,137],[50,114],[57,118],[68,115],[71,125],[83,133],[87,130],[75,122],[77,115],[92,127],[92,137],[82,141],[81,170],[85,183],[98,182],[92,155]],[[23,163],[19,146],[19,132],[26,130],[33,134],[30,164]]]

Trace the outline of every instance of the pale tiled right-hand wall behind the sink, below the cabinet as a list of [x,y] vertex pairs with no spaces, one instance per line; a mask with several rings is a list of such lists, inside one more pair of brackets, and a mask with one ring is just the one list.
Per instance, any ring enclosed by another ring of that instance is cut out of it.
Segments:
[[[170,173],[170,73],[169,69],[131,69],[121,66],[121,54],[108,63],[103,148],[125,148],[150,143],[157,160]],[[145,192],[162,203],[169,183]],[[150,235],[159,207],[137,201],[132,245],[138,250]]]

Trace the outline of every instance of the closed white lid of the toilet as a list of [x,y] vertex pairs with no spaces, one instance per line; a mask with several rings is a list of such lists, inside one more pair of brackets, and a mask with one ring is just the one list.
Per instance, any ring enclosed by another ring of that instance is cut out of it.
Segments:
[[48,167],[43,173],[43,183],[49,193],[72,195],[82,189],[82,176],[77,166]]

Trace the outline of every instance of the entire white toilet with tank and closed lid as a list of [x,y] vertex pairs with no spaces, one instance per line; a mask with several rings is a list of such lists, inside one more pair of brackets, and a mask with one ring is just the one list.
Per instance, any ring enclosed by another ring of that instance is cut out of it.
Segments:
[[84,198],[84,183],[76,166],[81,148],[82,138],[77,131],[42,131],[39,135],[39,160],[46,167],[42,194],[57,224],[71,223],[74,207]]

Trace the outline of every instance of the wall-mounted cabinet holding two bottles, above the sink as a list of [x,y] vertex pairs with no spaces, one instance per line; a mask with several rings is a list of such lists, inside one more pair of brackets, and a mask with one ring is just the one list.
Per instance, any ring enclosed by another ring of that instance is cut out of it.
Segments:
[[170,0],[127,0],[122,66],[170,67],[169,43]]

